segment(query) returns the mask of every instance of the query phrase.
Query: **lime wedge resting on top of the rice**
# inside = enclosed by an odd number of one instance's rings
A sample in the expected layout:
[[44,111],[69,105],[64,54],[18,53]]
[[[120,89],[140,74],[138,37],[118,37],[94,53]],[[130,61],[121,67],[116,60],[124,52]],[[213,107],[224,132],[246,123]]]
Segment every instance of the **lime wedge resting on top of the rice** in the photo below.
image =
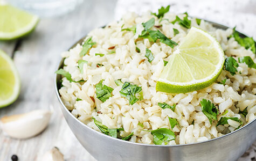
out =
[[186,93],[204,89],[216,81],[224,64],[224,52],[209,33],[192,27],[170,56],[156,90]]

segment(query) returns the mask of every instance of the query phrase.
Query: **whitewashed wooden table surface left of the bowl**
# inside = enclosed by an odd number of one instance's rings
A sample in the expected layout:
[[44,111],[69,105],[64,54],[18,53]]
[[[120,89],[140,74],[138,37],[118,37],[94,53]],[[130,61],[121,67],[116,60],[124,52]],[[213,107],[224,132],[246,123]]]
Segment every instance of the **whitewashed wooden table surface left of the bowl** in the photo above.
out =
[[54,91],[54,71],[60,53],[95,27],[114,19],[115,0],[89,0],[75,11],[56,18],[41,18],[36,30],[27,38],[1,42],[0,48],[13,57],[22,80],[18,100],[0,109],[0,117],[29,112],[33,109],[54,108],[49,126],[40,135],[26,140],[4,136],[0,129],[0,160],[41,160],[54,146],[65,160],[95,160],[75,138],[60,111]]

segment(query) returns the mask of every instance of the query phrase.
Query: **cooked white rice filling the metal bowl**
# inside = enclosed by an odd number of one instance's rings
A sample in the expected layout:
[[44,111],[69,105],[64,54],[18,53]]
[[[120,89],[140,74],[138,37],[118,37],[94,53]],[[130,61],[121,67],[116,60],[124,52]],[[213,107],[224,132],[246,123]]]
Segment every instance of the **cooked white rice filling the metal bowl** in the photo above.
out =
[[[184,14],[178,14],[184,17]],[[75,81],[86,80],[84,83],[75,83],[63,78],[63,86],[59,90],[61,99],[71,113],[87,126],[99,130],[95,126],[92,117],[102,122],[108,128],[124,128],[120,135],[125,137],[134,133],[131,142],[154,144],[153,135],[150,131],[158,128],[170,129],[170,118],[176,118],[179,126],[175,126],[172,131],[176,134],[174,141],[169,141],[168,145],[187,144],[201,142],[216,138],[235,130],[238,122],[228,120],[229,125],[220,125],[216,127],[217,120],[213,120],[212,125],[209,119],[203,114],[200,101],[202,99],[210,100],[219,107],[220,114],[218,120],[223,116],[237,117],[243,121],[243,126],[255,119],[256,114],[256,70],[248,68],[245,63],[239,63],[238,72],[232,76],[229,71],[222,71],[218,81],[227,79],[225,85],[213,83],[203,90],[189,93],[168,94],[156,91],[156,82],[163,70],[163,60],[168,61],[170,55],[177,48],[173,49],[164,43],[157,41],[149,42],[148,39],[137,39],[143,30],[142,23],[154,16],[150,12],[138,16],[136,13],[127,13],[120,21],[109,23],[105,28],[96,28],[91,31],[89,36],[96,42],[96,45],[89,50],[88,54],[82,58],[79,53],[82,46],[78,44],[62,56],[65,58],[64,70],[70,72]],[[175,20],[176,14],[165,13],[163,19],[169,21]],[[171,24],[167,20],[156,19],[155,25],[162,25],[157,28],[171,40],[179,43],[188,33],[188,29],[178,23]],[[123,26],[124,25],[124,26]],[[121,31],[121,27],[127,28],[136,25],[136,33],[130,31]],[[202,28],[215,36],[222,46],[226,56],[251,56],[256,61],[255,54],[250,49],[241,47],[234,38],[229,38],[232,29],[220,30],[213,27],[210,23],[202,20],[198,26],[196,19],[191,19],[191,26]],[[154,28],[154,27],[153,27]],[[174,36],[172,28],[176,28],[179,34]],[[136,42],[136,45],[135,45]],[[115,46],[114,54],[109,54],[109,47]],[[137,53],[135,47],[141,50]],[[154,60],[149,63],[144,56],[146,47],[151,50]],[[95,53],[106,54],[102,57],[95,56]],[[81,74],[78,68],[78,60],[86,60],[84,72]],[[145,61],[142,61],[146,59]],[[102,67],[96,67],[96,64],[103,64]],[[113,96],[102,103],[95,94],[95,84],[100,80],[103,84],[112,87]],[[142,87],[143,100],[137,101],[134,105],[129,105],[129,101],[120,96],[119,91],[122,86],[117,86],[114,82],[121,79],[122,82],[130,82]],[[93,97],[94,101],[90,98]],[[77,98],[82,100],[76,101]],[[176,104],[175,112],[170,108],[162,109],[157,103]],[[239,114],[247,107],[246,117]],[[98,112],[100,111],[100,112]],[[226,112],[227,111],[227,112]],[[98,112],[98,113],[97,113]],[[143,124],[143,128],[138,123]],[[193,122],[193,125],[192,125]]]

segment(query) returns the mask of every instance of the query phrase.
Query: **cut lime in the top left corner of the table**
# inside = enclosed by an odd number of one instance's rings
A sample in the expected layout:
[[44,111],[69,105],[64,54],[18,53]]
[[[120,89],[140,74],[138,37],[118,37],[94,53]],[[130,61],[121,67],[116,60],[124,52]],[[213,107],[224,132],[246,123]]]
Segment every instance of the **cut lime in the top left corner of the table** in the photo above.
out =
[[24,36],[36,27],[39,18],[10,5],[0,5],[0,40]]

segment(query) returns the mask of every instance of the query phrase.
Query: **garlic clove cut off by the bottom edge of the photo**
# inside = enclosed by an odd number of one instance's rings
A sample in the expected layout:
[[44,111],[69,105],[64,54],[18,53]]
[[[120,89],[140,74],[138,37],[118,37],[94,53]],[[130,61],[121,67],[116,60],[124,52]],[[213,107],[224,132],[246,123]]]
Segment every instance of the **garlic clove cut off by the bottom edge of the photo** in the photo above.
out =
[[64,156],[63,154],[59,151],[58,148],[54,147],[52,150],[47,151],[43,158],[41,159],[42,161],[64,161]]

